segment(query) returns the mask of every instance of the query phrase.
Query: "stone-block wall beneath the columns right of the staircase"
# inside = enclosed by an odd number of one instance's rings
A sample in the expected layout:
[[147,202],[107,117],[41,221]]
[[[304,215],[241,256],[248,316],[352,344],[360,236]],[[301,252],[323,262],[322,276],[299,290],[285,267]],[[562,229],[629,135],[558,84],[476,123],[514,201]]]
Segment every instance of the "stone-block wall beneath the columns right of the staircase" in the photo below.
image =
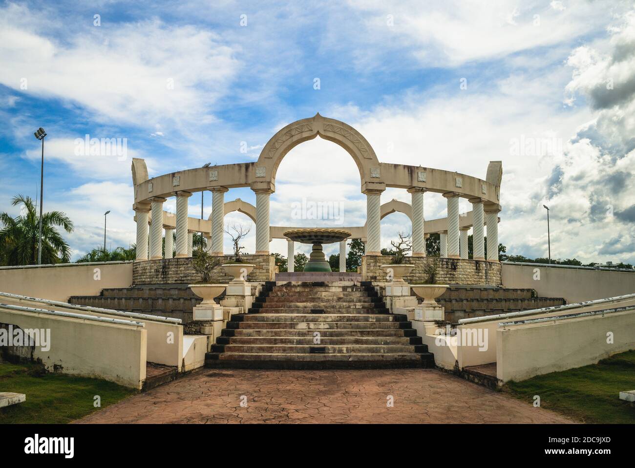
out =
[[[361,263],[361,274],[364,281],[385,281],[386,272],[380,265],[392,261],[389,255],[364,255]],[[500,286],[502,284],[500,263],[467,258],[439,257],[407,257],[406,263],[415,265],[404,280],[408,283],[425,281],[424,265],[438,262],[436,283],[439,284],[486,284]]]

